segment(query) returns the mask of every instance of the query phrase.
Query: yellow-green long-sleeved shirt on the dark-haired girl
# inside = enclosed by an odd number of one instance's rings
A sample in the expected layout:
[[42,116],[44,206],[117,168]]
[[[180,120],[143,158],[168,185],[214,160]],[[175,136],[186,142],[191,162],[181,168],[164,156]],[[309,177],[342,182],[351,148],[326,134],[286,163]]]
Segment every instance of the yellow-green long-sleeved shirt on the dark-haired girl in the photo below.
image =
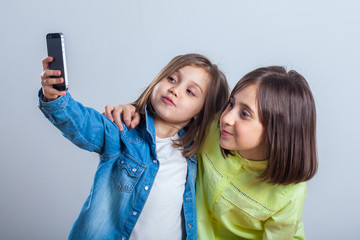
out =
[[271,185],[257,178],[267,161],[224,158],[216,119],[198,156],[199,240],[305,239],[301,215],[306,183]]

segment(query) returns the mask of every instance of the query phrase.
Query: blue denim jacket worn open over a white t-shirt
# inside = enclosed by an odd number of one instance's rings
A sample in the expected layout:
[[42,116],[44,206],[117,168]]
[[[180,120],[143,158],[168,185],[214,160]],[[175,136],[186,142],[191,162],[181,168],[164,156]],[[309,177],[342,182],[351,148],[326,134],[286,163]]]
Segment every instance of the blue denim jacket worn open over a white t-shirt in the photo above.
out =
[[[40,110],[67,139],[100,155],[93,186],[69,239],[129,239],[159,169],[153,118],[146,113],[136,128],[129,131],[124,126],[120,132],[107,117],[76,102],[69,93],[51,102],[42,99],[40,90]],[[183,212],[186,239],[193,240],[197,238],[196,158],[187,158],[187,165]]]

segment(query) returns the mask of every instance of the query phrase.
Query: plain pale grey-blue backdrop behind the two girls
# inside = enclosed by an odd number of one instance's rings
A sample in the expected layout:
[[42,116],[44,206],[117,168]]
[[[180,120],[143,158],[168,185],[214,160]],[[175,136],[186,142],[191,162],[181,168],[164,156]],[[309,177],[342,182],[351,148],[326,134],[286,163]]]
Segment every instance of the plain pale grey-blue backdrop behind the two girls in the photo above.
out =
[[45,35],[66,37],[72,95],[103,111],[133,101],[174,56],[197,52],[230,86],[266,65],[309,81],[320,168],[308,183],[308,239],[359,239],[359,1],[0,2],[0,239],[65,239],[98,157],[37,108]]

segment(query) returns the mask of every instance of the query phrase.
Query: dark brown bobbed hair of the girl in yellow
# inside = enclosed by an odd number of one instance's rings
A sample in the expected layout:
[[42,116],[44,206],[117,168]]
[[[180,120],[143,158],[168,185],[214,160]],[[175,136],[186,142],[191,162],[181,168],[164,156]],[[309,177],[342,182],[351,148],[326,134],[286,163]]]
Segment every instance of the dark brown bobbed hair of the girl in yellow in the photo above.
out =
[[[268,164],[260,178],[287,185],[311,179],[318,167],[316,109],[305,78],[294,70],[270,66],[246,74],[231,96],[256,84]],[[222,149],[225,156],[229,150]]]

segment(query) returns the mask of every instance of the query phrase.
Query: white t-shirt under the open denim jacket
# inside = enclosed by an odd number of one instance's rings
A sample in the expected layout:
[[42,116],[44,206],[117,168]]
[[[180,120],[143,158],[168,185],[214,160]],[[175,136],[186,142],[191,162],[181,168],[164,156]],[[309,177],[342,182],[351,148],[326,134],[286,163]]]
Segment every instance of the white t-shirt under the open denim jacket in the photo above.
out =
[[179,149],[172,147],[171,138],[156,137],[159,170],[131,233],[130,240],[182,240],[183,194],[187,175],[187,163]]

